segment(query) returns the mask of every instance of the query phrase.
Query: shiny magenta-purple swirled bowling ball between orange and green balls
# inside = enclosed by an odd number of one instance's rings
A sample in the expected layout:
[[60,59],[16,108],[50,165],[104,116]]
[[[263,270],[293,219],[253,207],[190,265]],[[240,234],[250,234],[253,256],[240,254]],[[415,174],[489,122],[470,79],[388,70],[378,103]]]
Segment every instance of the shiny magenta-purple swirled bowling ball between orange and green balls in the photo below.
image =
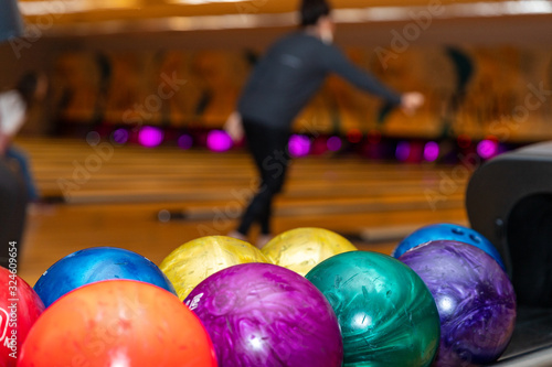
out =
[[291,270],[230,267],[195,287],[185,304],[211,335],[220,366],[341,366],[343,345],[330,304]]

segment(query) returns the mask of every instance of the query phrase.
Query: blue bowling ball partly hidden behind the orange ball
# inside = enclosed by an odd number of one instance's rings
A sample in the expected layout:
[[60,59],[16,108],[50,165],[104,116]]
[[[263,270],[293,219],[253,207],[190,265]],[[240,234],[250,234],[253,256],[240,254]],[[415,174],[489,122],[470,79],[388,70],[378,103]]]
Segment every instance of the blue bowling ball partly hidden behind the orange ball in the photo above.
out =
[[39,278],[34,290],[47,307],[75,288],[110,279],[139,280],[177,294],[153,262],[114,247],[88,248],[64,257]]

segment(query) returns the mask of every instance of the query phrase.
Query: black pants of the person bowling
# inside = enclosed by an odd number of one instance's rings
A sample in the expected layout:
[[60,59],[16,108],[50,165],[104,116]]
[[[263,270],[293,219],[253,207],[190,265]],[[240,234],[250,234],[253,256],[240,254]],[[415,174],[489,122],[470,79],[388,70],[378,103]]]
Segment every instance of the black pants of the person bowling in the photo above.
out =
[[257,193],[242,216],[237,231],[247,235],[254,223],[261,225],[261,233],[270,234],[270,217],[274,196],[278,194],[286,179],[290,163],[288,152],[289,131],[263,126],[244,119],[243,127],[250,152],[258,170],[261,183]]

